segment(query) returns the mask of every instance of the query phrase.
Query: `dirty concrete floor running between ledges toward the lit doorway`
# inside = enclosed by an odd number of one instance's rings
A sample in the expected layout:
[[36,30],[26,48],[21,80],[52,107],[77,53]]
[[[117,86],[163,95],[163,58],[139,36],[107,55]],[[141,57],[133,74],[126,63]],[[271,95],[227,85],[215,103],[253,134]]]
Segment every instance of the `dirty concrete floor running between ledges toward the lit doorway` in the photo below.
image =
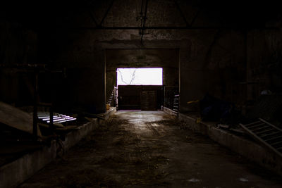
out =
[[282,187],[164,112],[117,112],[20,187]]

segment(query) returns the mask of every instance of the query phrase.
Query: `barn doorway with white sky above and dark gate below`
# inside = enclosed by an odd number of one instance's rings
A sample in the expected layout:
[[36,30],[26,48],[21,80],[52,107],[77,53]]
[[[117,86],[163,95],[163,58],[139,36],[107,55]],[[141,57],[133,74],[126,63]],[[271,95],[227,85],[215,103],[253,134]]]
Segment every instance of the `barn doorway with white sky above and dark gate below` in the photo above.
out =
[[161,110],[163,68],[117,68],[116,75],[118,110]]

